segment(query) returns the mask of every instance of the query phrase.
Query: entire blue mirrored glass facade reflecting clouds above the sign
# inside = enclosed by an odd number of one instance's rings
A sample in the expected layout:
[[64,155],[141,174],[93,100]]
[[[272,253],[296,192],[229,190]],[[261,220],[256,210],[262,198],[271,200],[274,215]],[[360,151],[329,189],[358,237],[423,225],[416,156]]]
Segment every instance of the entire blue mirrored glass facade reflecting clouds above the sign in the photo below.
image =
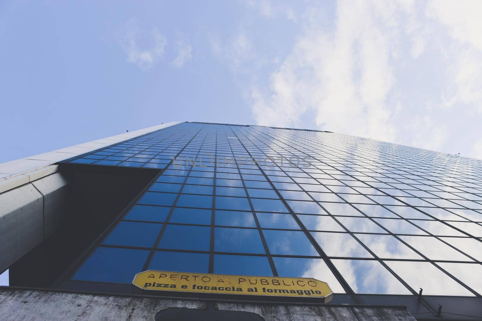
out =
[[481,296],[482,161],[313,130],[181,123],[67,161],[159,170],[69,280],[313,277]]

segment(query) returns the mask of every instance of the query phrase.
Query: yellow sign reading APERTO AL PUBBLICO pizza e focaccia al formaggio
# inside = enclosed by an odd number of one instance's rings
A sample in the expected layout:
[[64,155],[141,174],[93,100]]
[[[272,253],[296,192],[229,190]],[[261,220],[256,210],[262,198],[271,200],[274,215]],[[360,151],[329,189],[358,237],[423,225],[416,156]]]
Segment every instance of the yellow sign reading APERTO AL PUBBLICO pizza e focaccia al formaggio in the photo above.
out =
[[202,274],[148,270],[137,273],[132,284],[143,290],[192,293],[316,297],[329,302],[327,283],[310,278]]

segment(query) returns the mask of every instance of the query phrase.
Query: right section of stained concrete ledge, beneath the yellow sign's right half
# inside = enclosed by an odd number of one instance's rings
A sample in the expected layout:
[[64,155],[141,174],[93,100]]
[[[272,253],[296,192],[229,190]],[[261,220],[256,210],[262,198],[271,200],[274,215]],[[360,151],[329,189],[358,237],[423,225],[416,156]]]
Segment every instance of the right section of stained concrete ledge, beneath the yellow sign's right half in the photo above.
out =
[[355,321],[355,320],[397,320],[415,321],[404,307],[361,307],[330,305],[253,305],[216,303],[218,310],[250,311],[266,321]]

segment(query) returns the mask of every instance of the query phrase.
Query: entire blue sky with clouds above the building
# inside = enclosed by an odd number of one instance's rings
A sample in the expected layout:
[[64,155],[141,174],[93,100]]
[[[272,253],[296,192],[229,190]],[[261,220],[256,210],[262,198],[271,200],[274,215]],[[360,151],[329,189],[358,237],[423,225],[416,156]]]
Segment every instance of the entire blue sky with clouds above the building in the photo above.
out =
[[1,1],[0,162],[175,120],[482,158],[481,1]]

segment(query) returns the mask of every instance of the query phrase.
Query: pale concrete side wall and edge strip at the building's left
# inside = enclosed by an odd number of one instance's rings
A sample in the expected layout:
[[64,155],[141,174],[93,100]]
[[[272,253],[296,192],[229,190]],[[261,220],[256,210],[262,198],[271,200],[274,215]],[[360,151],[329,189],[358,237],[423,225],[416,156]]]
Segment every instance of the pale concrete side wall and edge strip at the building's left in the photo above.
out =
[[126,132],[0,164],[0,273],[52,235],[68,215],[67,178],[55,162],[179,122]]

